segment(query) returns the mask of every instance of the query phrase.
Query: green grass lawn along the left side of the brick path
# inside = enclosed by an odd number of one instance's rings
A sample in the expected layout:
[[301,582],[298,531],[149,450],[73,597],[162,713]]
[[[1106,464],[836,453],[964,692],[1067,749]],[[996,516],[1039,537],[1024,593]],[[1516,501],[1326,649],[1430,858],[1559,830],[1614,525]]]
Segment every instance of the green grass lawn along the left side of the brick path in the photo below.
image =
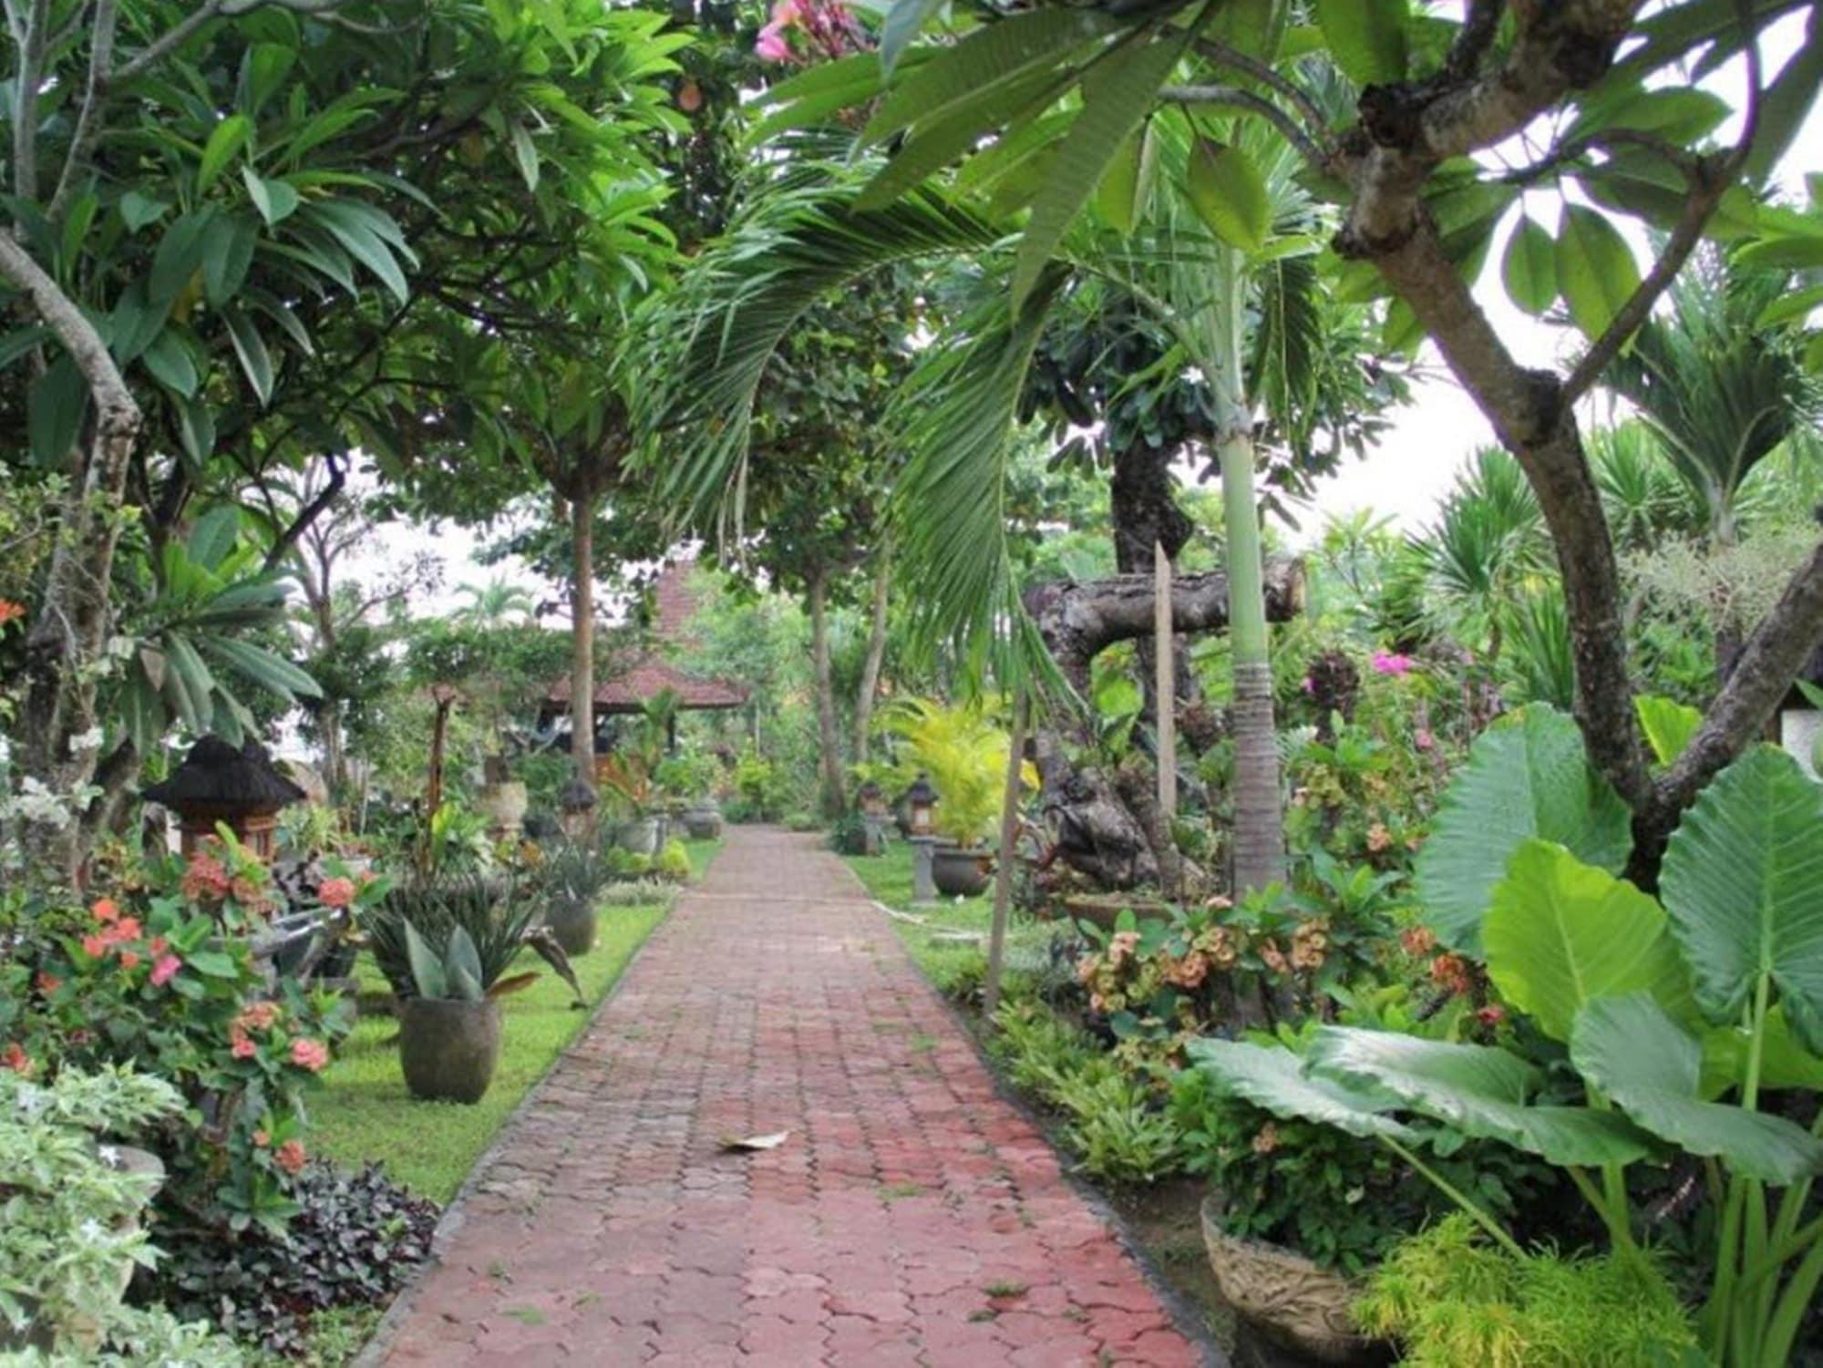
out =
[[[720,843],[691,841],[687,846],[691,868],[700,876]],[[341,1164],[379,1160],[396,1182],[436,1202],[448,1202],[512,1109],[589,1021],[594,1005],[669,908],[669,901],[602,908],[596,947],[574,961],[589,1010],[572,1009],[569,987],[551,972],[540,974],[530,989],[501,1000],[500,1069],[487,1096],[472,1107],[419,1102],[407,1093],[399,1073],[397,1021],[377,1014],[363,1018],[323,1073],[324,1087],[308,1098],[306,1144]],[[525,963],[543,965],[534,956],[527,956]],[[357,976],[363,992],[385,992],[386,983],[366,956]]]

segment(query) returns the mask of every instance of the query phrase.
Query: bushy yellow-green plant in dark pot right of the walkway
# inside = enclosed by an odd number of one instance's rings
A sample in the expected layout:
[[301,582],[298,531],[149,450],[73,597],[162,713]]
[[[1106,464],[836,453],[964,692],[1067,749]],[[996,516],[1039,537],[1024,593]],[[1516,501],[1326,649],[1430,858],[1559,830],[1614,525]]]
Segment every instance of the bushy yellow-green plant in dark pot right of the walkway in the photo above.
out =
[[990,841],[1001,821],[1006,733],[981,704],[952,708],[928,699],[897,704],[886,726],[904,737],[912,768],[930,775],[937,790],[932,857],[937,892],[979,894],[994,874]]

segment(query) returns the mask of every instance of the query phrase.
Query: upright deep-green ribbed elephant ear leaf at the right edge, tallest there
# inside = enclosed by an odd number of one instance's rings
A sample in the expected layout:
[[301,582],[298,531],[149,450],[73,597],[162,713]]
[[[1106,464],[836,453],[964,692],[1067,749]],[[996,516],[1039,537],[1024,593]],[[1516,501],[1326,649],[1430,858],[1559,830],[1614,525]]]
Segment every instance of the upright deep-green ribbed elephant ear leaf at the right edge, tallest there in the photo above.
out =
[[1763,978],[1823,1052],[1823,788],[1759,744],[1703,790],[1672,834],[1659,894],[1710,1021],[1741,1020]]

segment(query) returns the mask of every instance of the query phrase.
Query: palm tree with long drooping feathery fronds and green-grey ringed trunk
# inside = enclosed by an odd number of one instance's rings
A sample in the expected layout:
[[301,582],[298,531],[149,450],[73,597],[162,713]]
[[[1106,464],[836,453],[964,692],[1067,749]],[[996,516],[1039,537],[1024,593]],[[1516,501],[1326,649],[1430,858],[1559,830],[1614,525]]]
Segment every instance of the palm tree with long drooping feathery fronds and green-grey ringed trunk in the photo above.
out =
[[[1187,120],[1170,120],[1158,139],[1158,153],[1179,175],[1192,146]],[[1267,223],[1307,226],[1300,192],[1274,171],[1267,166],[1262,175],[1272,195]],[[1174,365],[1198,372],[1216,396],[1210,454],[1225,491],[1240,751],[1234,885],[1254,888],[1282,877],[1254,423],[1262,398],[1280,396],[1287,409],[1272,414],[1278,427],[1302,421],[1289,409],[1303,390],[1285,378],[1313,354],[1309,321],[1318,310],[1300,292],[1314,288],[1314,274],[1283,259],[1256,264],[1174,193],[1178,175],[1159,175],[1139,206],[1152,215],[1141,230],[1128,235],[1077,221],[1059,261],[1015,305],[1003,285],[1012,252],[992,221],[928,188],[886,208],[857,208],[848,190],[853,175],[853,168],[798,166],[758,199],[731,244],[685,279],[665,321],[685,337],[685,354],[669,367],[676,383],[658,398],[653,416],[682,423],[695,438],[665,472],[669,492],[696,507],[727,507],[727,492],[742,483],[746,425],[766,359],[822,292],[891,261],[972,257],[972,306],[924,350],[886,414],[893,445],[908,452],[893,516],[902,580],[919,587],[910,607],[924,638],[950,644],[964,662],[992,660],[1003,684],[1015,682],[1034,662],[1043,669],[1048,660],[1019,600],[1004,525],[1008,438],[1032,354],[1048,312],[1070,292],[1117,292],[1136,301],[1176,339]],[[676,452],[678,443],[667,451]]]

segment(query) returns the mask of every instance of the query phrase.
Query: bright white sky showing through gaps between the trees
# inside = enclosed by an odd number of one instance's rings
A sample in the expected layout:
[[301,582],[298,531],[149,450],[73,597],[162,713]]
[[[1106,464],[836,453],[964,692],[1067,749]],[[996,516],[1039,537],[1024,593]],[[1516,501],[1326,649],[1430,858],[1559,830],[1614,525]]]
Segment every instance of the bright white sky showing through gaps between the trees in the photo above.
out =
[[[1770,80],[1785,60],[1796,51],[1803,36],[1805,16],[1796,15],[1774,26],[1763,42],[1766,78]],[[1723,67],[1703,82],[1723,98],[1739,108],[1743,95],[1743,73],[1739,64]],[[1734,137],[1735,124],[1725,124],[1715,137],[1726,140]],[[1502,150],[1511,153],[1513,162],[1526,162],[1529,157],[1520,148]],[[1823,102],[1810,111],[1803,131],[1792,142],[1792,151],[1779,168],[1777,181],[1788,195],[1803,197],[1803,177],[1807,171],[1823,170]],[[1559,213],[1559,193],[1555,190],[1528,192],[1524,208],[1533,219],[1555,232]],[[1513,210],[1513,215],[1520,212]],[[1630,219],[1621,219],[1621,228],[1633,243],[1641,270],[1650,264],[1650,252],[1644,233]],[[1475,286],[1475,297],[1488,310],[1489,321],[1500,337],[1513,350],[1522,365],[1562,367],[1582,347],[1581,334],[1568,328],[1553,328],[1517,310],[1506,297],[1500,285],[1499,250],[1506,241],[1504,224],[1495,235],[1495,250],[1482,268]],[[1449,489],[1457,471],[1468,456],[1482,445],[1493,441],[1493,430],[1475,403],[1447,376],[1437,350],[1426,343],[1422,367],[1426,379],[1413,385],[1413,401],[1396,410],[1393,425],[1380,445],[1365,460],[1351,461],[1340,474],[1320,485],[1316,494],[1316,516],[1303,520],[1303,536],[1313,536],[1323,514],[1347,514],[1358,509],[1373,509],[1391,516],[1404,531],[1418,531],[1429,522],[1438,498]],[[1606,418],[1608,403],[1593,399],[1584,405],[1584,420]],[[443,589],[416,607],[419,613],[439,613],[463,602],[458,587],[465,582],[485,582],[496,575],[507,575],[518,584],[534,587],[536,593],[554,595],[549,582],[540,580],[516,560],[500,565],[481,565],[476,562],[476,547],[485,540],[456,523],[443,523],[436,533],[416,525],[386,525],[355,556],[348,571],[359,578],[383,575],[386,565],[401,558],[434,551],[445,562]]]

